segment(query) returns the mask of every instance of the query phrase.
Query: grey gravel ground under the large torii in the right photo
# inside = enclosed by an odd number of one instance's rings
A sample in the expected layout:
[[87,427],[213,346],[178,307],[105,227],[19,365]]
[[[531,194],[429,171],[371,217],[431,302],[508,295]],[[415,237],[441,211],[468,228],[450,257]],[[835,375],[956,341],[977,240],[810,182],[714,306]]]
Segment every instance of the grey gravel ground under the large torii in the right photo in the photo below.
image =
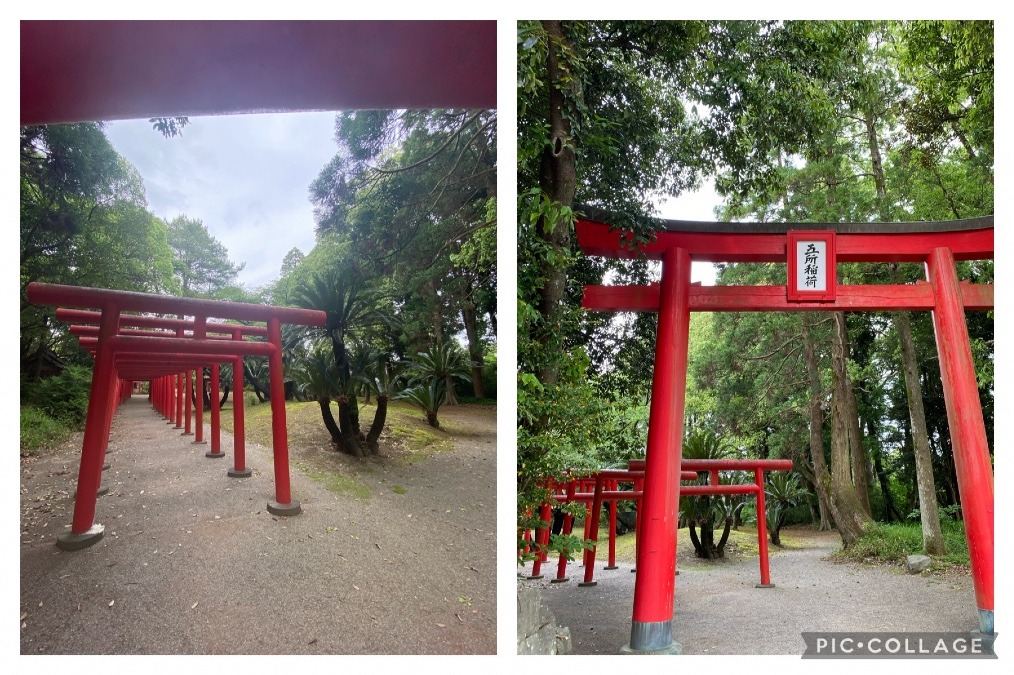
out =
[[[831,630],[953,630],[977,627],[967,575],[909,576],[883,567],[836,564],[826,556],[837,533],[794,530],[803,545],[771,555],[775,588],[757,589],[756,556],[714,564],[680,551],[673,634],[683,654],[789,654],[805,649],[801,633]],[[684,561],[685,560],[685,561]],[[574,654],[617,654],[630,641],[634,578],[630,565],[603,571],[597,586],[580,588],[580,561],[571,581],[551,584],[556,564],[544,566],[542,598],[568,626]]]

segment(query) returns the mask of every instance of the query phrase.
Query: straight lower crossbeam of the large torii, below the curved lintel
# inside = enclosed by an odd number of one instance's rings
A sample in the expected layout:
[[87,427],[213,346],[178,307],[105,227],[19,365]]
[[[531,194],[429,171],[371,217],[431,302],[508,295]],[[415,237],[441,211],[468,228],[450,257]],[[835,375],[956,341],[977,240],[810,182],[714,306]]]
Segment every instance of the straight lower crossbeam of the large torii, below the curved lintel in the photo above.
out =
[[[992,284],[961,284],[966,310],[993,309]],[[897,286],[839,286],[834,302],[789,302],[784,286],[691,286],[691,311],[900,311],[933,309],[933,288],[923,282]],[[658,311],[658,286],[585,286],[581,306],[619,312]]]

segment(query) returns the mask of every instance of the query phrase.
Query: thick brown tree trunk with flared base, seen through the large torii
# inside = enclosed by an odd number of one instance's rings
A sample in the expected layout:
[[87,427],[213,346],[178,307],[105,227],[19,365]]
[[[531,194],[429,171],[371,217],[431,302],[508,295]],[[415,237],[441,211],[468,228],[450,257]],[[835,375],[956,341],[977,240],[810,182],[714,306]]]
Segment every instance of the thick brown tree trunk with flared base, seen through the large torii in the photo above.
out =
[[835,329],[831,331],[831,373],[834,387],[830,404],[830,482],[831,512],[842,543],[846,548],[862,535],[872,518],[863,509],[851,479],[849,457],[849,415],[847,387],[850,386],[846,368],[846,345],[842,340],[845,314],[834,312]]

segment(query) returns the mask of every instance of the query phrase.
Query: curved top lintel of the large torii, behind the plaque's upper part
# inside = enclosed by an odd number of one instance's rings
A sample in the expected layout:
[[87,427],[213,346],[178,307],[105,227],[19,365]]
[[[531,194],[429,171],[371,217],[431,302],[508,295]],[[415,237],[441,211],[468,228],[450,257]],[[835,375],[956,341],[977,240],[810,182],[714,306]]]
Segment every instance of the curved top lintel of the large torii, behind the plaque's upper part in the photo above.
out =
[[[659,232],[633,250],[629,233],[605,223],[577,219],[578,244],[588,255],[661,259],[666,248],[685,248],[706,262],[785,262],[786,235],[751,232]],[[728,225],[728,224],[725,224]],[[950,248],[958,260],[993,258],[993,228],[949,232],[837,235],[839,262],[925,262],[934,248]]]

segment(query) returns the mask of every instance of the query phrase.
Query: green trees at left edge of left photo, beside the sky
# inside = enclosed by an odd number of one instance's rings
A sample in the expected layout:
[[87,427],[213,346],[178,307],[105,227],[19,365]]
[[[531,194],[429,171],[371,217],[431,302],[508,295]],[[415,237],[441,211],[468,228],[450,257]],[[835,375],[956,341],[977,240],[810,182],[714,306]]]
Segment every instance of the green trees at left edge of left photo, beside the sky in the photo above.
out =
[[148,212],[140,175],[101,125],[21,128],[22,371],[54,355],[70,363],[85,359],[77,340],[55,322],[54,308],[27,303],[28,283],[173,292],[171,264],[165,224]]

